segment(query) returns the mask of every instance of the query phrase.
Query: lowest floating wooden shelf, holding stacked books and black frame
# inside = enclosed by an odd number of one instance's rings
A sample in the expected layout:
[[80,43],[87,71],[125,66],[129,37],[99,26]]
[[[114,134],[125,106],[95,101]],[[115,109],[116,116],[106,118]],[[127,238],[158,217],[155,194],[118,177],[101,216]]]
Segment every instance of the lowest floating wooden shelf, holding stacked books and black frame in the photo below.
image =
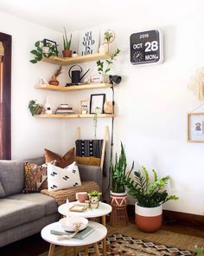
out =
[[[108,118],[108,117],[115,117],[114,114],[98,114],[98,118]],[[93,118],[94,114],[70,114],[70,115],[64,115],[64,114],[41,114],[41,115],[35,115],[35,117],[38,118]]]

